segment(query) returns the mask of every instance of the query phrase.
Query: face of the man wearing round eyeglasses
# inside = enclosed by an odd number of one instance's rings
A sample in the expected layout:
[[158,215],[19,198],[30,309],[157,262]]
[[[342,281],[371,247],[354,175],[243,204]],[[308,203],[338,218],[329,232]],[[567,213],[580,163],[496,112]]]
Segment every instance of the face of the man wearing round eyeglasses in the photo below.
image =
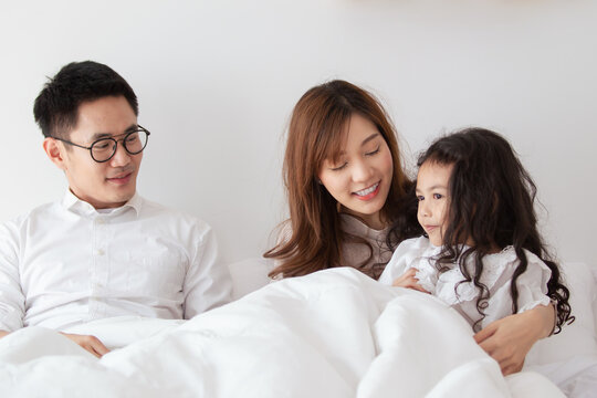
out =
[[107,209],[123,206],[135,195],[143,153],[128,154],[122,138],[136,127],[137,116],[124,96],[106,96],[78,106],[78,118],[67,138],[70,142],[90,147],[100,138],[118,140],[116,154],[104,163],[93,160],[88,149],[55,140],[62,157],[59,167],[64,170],[69,187],[78,199],[96,209]]

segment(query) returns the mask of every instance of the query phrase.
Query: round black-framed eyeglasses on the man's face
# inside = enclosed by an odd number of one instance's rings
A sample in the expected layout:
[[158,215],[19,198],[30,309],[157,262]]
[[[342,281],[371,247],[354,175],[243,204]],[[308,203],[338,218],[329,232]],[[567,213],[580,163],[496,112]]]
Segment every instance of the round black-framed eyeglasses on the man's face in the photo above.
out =
[[149,138],[149,134],[150,133],[144,127],[137,126],[137,128],[135,128],[132,132],[126,133],[126,135],[121,139],[100,138],[98,140],[94,142],[88,147],[78,145],[75,143],[71,143],[67,139],[62,139],[59,137],[52,137],[52,138],[63,142],[64,144],[78,147],[78,148],[88,149],[93,160],[97,163],[104,163],[112,159],[114,154],[116,154],[116,147],[118,146],[119,140],[123,143],[123,147],[128,154],[130,155],[140,154],[143,149],[145,149],[145,147],[147,146],[147,139]]

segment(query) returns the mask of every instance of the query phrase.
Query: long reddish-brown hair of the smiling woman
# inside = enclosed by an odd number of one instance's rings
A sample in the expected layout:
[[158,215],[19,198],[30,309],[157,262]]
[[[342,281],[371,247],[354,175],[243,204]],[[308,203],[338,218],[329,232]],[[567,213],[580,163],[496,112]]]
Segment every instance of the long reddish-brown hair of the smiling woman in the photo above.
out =
[[[381,209],[383,219],[388,224],[394,223],[388,234],[388,245],[394,249],[397,242],[416,235],[411,228],[420,233],[416,205],[409,206],[410,210],[406,211],[410,197],[415,197],[407,193],[412,182],[402,170],[396,130],[388,115],[365,90],[339,80],[324,83],[308,90],[298,100],[290,122],[283,167],[290,209],[290,219],[285,222],[289,237],[283,237],[277,245],[263,254],[281,263],[270,273],[271,277],[306,275],[342,265],[342,243],[346,241],[366,244],[370,260],[370,244],[360,237],[342,231],[336,200],[317,178],[323,161],[337,158],[354,114],[369,119],[377,127],[394,160],[394,177]],[[397,220],[399,218],[404,218],[404,221]],[[378,277],[379,273],[369,272],[373,277]]]

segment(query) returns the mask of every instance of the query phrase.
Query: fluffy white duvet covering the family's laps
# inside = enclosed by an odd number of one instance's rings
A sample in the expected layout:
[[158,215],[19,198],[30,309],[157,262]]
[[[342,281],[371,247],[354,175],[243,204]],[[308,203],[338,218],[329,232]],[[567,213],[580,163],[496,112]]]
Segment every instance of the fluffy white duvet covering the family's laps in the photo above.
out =
[[275,282],[188,322],[71,332],[115,349],[96,359],[53,331],[21,329],[0,341],[0,397],[563,396],[535,373],[503,378],[438,300],[352,269]]

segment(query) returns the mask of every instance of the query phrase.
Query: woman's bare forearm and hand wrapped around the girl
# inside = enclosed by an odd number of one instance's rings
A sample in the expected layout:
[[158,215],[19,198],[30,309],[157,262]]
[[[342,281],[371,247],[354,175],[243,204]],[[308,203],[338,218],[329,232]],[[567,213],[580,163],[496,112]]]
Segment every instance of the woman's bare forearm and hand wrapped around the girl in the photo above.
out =
[[520,371],[526,354],[538,339],[551,335],[555,325],[554,305],[537,305],[520,314],[489,324],[474,335],[475,342],[493,359],[504,376]]

